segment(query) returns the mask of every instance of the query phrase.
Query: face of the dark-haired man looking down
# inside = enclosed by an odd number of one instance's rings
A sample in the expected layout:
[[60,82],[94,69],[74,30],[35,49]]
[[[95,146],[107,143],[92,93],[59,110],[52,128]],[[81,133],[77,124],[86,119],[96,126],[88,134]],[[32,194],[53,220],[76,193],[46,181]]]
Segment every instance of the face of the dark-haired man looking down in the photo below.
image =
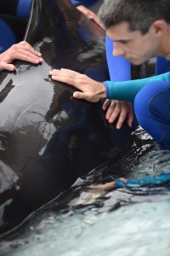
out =
[[122,22],[111,26],[106,33],[114,41],[113,55],[122,55],[135,65],[159,54],[159,40],[151,27],[149,32],[142,35],[139,31],[129,32],[127,22]]

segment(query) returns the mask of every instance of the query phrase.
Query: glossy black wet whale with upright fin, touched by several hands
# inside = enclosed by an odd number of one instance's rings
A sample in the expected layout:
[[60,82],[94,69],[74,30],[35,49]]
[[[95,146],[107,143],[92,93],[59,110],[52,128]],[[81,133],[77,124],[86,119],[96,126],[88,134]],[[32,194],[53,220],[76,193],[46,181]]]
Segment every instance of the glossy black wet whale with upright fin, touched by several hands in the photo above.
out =
[[15,61],[16,71],[0,77],[1,235],[116,158],[131,133],[108,125],[100,103],[76,101],[73,88],[48,77],[64,67],[108,79],[105,35],[69,0],[34,0],[25,38],[43,62]]

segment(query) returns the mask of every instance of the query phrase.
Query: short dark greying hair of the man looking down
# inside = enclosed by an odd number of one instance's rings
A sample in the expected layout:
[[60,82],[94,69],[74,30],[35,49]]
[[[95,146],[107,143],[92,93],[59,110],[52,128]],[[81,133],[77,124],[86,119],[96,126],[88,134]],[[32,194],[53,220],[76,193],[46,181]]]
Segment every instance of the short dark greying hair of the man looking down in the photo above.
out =
[[105,0],[99,19],[106,29],[126,21],[131,32],[145,34],[155,20],[170,23],[170,0]]

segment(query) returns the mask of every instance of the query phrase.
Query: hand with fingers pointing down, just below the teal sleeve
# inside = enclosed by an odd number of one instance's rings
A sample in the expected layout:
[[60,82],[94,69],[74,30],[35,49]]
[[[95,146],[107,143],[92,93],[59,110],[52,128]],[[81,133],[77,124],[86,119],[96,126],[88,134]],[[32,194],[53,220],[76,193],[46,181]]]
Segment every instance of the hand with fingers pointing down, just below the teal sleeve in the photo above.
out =
[[128,127],[133,123],[133,105],[131,102],[120,102],[116,100],[105,100],[103,110],[106,110],[105,119],[111,124],[118,117],[116,129],[121,129],[123,122],[127,119]]

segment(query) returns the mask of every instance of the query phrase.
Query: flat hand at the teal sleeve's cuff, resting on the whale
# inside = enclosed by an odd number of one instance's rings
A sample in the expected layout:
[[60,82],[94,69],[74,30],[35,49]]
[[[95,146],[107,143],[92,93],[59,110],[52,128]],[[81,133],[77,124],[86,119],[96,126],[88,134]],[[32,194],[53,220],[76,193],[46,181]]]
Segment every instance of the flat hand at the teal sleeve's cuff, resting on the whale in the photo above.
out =
[[88,76],[77,73],[70,69],[54,69],[49,74],[52,79],[70,84],[76,87],[78,90],[75,91],[73,96],[77,99],[84,99],[88,102],[99,102],[100,99],[105,98],[105,85],[95,81],[94,79],[88,78]]

